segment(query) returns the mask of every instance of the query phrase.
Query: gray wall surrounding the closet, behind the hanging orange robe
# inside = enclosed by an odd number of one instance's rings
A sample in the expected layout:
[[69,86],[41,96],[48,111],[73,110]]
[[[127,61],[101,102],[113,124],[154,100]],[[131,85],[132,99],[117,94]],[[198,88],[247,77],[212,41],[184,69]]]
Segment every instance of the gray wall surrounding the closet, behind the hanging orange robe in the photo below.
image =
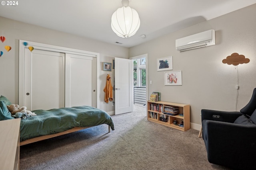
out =
[[[112,102],[108,104],[104,102],[105,93],[103,92],[106,85],[106,75],[110,74],[111,77],[114,77],[114,70],[111,72],[103,71],[102,62],[112,63],[114,57],[128,58],[128,48],[2,17],[0,17],[0,36],[6,37],[4,43],[0,41],[0,51],[4,52],[2,57],[0,57],[0,95],[6,96],[12,103],[18,104],[18,40],[22,39],[100,53],[100,109],[114,113]],[[9,52],[4,49],[6,45],[12,47]],[[112,83],[114,83],[114,78]]]

